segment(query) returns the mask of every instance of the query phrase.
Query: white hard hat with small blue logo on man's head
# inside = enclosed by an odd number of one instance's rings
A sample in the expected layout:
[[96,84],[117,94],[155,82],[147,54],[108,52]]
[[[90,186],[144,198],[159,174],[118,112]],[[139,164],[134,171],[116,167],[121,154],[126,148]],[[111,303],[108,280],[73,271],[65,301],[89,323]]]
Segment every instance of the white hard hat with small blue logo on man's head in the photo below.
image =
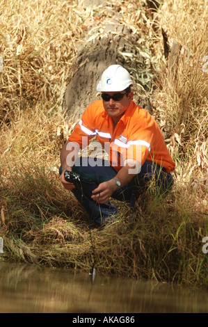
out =
[[121,65],[111,65],[102,73],[98,92],[120,92],[132,84],[129,72]]

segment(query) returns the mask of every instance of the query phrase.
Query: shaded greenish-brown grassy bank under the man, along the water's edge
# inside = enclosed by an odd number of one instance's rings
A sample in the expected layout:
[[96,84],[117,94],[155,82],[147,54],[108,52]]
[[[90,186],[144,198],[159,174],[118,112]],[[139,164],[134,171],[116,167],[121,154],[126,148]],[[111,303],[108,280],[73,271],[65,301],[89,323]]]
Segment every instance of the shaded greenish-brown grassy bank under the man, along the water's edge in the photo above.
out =
[[63,190],[57,173],[30,162],[7,176],[1,179],[1,235],[8,260],[90,271],[95,254],[100,273],[207,285],[207,226],[193,205],[196,194],[175,188],[161,199],[149,192],[131,223],[128,205],[117,203],[120,218],[100,229]]

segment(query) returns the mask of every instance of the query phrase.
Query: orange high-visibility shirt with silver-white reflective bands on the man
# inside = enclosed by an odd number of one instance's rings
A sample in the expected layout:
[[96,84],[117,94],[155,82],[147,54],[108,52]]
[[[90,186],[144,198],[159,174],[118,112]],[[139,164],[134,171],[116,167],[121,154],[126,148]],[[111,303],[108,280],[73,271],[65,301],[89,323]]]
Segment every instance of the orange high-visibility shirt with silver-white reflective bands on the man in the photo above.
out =
[[[110,164],[117,171],[124,166],[126,159],[134,159],[141,166],[145,160],[153,161],[166,168],[167,172],[175,169],[175,162],[170,157],[157,122],[133,101],[114,130],[112,118],[106,113],[102,100],[90,104],[69,141],[76,142],[83,148],[94,136],[109,153]],[[83,144],[86,138],[87,144],[86,141]]]

